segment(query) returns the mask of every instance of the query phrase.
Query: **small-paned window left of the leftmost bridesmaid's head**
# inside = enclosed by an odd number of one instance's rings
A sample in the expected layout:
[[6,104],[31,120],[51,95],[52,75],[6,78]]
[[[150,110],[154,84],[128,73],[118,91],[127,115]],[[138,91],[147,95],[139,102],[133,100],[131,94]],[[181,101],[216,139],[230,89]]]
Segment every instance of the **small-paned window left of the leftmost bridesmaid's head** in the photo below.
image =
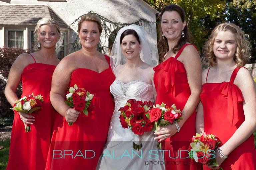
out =
[[16,30],[8,30],[8,47],[19,47],[24,46],[24,32]]

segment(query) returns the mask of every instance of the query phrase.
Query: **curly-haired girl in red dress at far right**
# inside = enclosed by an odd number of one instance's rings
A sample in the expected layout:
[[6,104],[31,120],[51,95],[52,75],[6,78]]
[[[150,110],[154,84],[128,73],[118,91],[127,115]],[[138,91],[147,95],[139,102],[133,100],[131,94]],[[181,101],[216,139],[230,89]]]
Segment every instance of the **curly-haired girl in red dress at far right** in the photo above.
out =
[[197,131],[201,128],[222,141],[216,159],[224,170],[256,169],[256,90],[243,67],[250,57],[248,45],[242,30],[231,23],[215,27],[205,45],[211,67],[202,74]]

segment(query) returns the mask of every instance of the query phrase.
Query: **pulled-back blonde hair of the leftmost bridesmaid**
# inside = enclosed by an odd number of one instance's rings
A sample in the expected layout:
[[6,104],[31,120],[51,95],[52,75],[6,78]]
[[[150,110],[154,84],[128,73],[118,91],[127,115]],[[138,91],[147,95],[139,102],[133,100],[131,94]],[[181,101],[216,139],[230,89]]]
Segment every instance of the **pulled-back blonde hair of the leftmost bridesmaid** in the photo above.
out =
[[60,24],[58,23],[58,21],[51,19],[51,18],[42,18],[41,20],[38,20],[38,22],[36,23],[36,27],[35,27],[35,31],[34,31],[34,39],[35,41],[35,46],[34,49],[39,50],[37,47],[38,44],[38,37],[39,37],[39,30],[43,25],[53,25],[56,27],[57,30],[57,34],[60,36]]

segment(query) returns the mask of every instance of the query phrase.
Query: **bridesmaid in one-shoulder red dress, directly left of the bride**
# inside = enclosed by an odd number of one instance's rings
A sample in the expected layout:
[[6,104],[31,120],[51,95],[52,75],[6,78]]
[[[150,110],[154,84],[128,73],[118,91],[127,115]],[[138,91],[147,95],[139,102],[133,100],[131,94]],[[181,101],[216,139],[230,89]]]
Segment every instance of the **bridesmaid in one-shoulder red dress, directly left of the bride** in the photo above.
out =
[[[107,139],[114,100],[109,91],[115,76],[109,57],[97,51],[101,21],[92,14],[81,17],[78,35],[82,49],[64,57],[56,67],[51,102],[59,113],[55,121],[46,169],[95,169]],[[88,116],[65,104],[68,87],[76,84],[94,97]],[[68,122],[73,125],[69,126]]]

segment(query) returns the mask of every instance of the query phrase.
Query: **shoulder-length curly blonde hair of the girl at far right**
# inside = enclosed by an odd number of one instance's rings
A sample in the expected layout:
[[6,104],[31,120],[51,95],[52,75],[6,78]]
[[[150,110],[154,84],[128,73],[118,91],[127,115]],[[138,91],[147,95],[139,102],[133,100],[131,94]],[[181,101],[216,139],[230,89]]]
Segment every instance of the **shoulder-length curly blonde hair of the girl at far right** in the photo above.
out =
[[208,64],[210,64],[212,67],[217,64],[216,56],[213,52],[213,44],[215,38],[220,31],[229,31],[234,34],[237,43],[234,61],[237,66],[244,66],[246,62],[250,59],[250,43],[248,40],[246,40],[243,31],[238,26],[232,23],[222,23],[213,29],[208,41],[204,45],[205,57],[208,59]]

